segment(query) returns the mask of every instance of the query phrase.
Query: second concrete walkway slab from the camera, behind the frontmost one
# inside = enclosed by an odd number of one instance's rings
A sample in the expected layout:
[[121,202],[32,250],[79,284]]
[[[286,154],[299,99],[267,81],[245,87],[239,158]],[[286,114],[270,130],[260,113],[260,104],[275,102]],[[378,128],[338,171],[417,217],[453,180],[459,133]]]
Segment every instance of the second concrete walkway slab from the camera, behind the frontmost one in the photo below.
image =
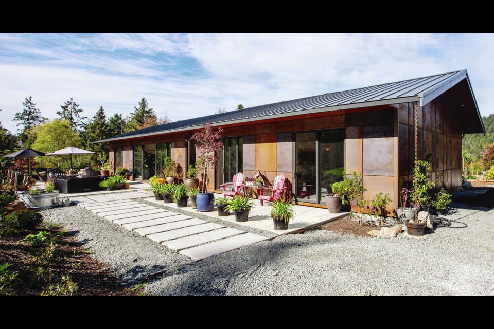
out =
[[[192,228],[205,226],[205,225],[207,225],[207,224],[193,226]],[[179,231],[179,230],[177,230],[177,231]],[[170,231],[167,233],[174,233],[174,232],[175,231]],[[243,234],[243,233],[245,233],[245,232],[240,231],[240,230],[236,230],[236,229],[233,229],[230,227],[225,227],[225,228],[221,228],[219,230],[214,230],[214,231],[209,231],[209,232],[205,232],[205,233],[186,236],[186,237],[182,237],[180,239],[175,239],[175,240],[171,240],[171,241],[165,241],[162,243],[162,245],[165,245],[168,248],[173,249],[175,251],[180,251],[182,249],[195,247],[198,245],[202,245],[204,243],[208,243],[208,242],[212,242],[212,241],[216,241],[216,240],[220,240],[220,239],[225,239],[225,237],[230,237],[230,236],[239,235],[239,234]],[[164,233],[164,234],[166,234],[166,233]],[[154,240],[152,235],[149,235],[148,237],[150,239]]]

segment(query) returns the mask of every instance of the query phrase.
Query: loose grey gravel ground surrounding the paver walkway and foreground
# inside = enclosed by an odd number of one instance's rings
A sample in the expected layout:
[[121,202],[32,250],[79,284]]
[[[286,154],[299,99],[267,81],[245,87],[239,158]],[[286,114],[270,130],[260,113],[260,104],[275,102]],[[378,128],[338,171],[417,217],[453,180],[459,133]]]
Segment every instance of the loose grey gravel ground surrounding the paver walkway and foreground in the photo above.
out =
[[[494,210],[457,208],[426,239],[372,239],[315,229],[200,262],[79,207],[44,211],[127,280],[171,268],[152,295],[494,295]],[[134,262],[134,260],[137,261]],[[137,276],[137,277],[136,277]]]

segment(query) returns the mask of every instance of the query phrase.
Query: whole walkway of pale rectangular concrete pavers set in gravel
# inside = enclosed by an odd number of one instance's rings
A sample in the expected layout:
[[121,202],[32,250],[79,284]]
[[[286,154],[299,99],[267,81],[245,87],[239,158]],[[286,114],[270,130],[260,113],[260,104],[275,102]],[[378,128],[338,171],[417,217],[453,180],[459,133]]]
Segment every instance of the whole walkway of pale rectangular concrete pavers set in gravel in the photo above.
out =
[[172,250],[201,260],[267,238],[139,202],[145,192],[74,197],[80,207]]

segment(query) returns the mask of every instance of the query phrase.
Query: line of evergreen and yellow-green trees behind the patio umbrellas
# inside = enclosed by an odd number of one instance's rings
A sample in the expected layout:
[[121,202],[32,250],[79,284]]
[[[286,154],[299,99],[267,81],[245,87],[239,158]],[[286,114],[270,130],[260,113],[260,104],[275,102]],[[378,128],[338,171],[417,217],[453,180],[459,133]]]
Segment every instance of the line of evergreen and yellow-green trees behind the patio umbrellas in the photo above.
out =
[[[0,155],[19,148],[48,153],[74,146],[96,153],[95,157],[77,157],[80,162],[77,165],[94,166],[95,159],[101,164],[108,161],[109,151],[106,143],[93,144],[94,141],[170,122],[166,116],[158,117],[144,97],[129,116],[115,114],[109,118],[103,106],[93,117],[83,116],[83,109],[73,98],[60,105],[55,119],[43,117],[32,96],[26,97],[22,104],[22,110],[13,117],[19,127],[17,134],[9,132],[0,122]],[[68,168],[66,157],[43,157],[38,161],[40,167]]]

